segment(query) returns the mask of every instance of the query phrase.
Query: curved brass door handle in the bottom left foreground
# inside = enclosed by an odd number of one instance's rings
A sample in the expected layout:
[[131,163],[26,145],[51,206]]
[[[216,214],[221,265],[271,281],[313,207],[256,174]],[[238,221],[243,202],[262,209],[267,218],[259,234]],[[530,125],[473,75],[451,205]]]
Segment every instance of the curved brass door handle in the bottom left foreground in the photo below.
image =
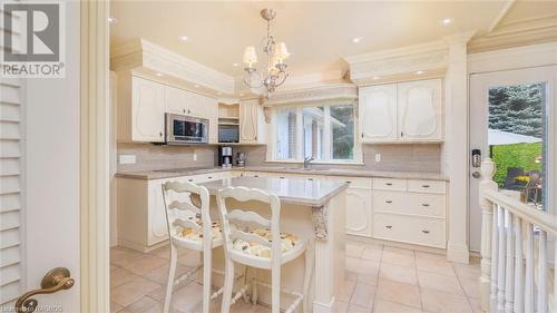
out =
[[35,312],[39,302],[31,296],[38,294],[50,294],[59,292],[61,290],[69,290],[76,281],[70,277],[70,272],[66,267],[56,267],[50,270],[42,281],[40,282],[40,288],[26,292],[16,302],[16,312]]

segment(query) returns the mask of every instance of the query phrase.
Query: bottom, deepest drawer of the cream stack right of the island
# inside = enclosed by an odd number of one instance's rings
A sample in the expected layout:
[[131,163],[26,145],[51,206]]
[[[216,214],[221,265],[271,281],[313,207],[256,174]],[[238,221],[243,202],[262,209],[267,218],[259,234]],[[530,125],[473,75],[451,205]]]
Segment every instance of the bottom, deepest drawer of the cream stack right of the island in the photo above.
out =
[[444,219],[382,213],[373,214],[373,236],[441,248],[447,241]]

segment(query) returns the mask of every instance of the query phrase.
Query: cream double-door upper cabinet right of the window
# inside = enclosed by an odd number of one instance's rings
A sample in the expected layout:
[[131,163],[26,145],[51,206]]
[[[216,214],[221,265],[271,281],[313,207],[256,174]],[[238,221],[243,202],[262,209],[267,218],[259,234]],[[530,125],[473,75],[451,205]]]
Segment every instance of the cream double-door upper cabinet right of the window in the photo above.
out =
[[361,87],[361,141],[442,141],[441,79]]

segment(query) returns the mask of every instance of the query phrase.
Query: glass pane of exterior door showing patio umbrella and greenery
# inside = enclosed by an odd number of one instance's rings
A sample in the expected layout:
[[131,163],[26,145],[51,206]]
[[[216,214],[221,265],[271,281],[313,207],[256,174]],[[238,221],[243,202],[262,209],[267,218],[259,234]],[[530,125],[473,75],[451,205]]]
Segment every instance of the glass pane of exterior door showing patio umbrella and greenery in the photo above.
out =
[[517,190],[532,207],[547,203],[546,84],[499,86],[489,89],[488,144],[497,165],[495,182]]

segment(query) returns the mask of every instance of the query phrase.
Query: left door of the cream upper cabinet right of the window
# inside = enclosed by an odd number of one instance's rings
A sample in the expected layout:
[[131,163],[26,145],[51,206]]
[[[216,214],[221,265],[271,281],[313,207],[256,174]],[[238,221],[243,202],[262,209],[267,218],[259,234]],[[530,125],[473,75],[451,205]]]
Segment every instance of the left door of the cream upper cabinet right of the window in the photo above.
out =
[[359,105],[362,143],[397,141],[395,84],[360,88]]

